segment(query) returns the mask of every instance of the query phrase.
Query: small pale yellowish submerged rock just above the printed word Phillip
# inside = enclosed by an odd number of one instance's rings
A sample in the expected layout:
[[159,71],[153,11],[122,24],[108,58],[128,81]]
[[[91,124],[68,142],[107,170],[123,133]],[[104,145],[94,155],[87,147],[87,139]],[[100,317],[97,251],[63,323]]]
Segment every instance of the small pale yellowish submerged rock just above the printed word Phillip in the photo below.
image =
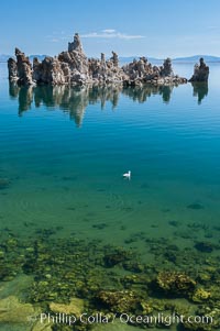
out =
[[80,315],[84,312],[84,300],[78,298],[72,298],[68,305],[51,302],[50,309],[53,312],[75,315],[76,317],[80,317]]

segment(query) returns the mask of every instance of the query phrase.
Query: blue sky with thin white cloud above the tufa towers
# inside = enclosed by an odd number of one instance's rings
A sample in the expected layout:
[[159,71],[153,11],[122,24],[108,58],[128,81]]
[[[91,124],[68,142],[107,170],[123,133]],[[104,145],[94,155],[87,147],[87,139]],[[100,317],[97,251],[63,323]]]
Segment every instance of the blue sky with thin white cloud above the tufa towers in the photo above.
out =
[[0,54],[55,55],[78,32],[88,56],[220,56],[219,13],[219,0],[2,0]]

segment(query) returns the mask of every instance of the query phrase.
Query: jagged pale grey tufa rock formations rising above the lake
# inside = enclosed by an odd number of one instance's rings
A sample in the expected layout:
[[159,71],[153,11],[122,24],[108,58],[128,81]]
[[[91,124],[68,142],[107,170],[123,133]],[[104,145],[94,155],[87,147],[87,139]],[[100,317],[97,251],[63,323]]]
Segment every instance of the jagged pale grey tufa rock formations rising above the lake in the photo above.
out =
[[[15,57],[9,58],[9,80],[19,86],[31,85],[87,85],[87,84],[122,84],[124,86],[141,86],[143,84],[153,85],[178,85],[186,84],[187,79],[175,75],[172,68],[170,58],[166,58],[162,66],[155,66],[142,56],[133,59],[132,63],[122,67],[119,65],[118,54],[112,52],[112,57],[106,59],[101,57],[87,58],[84,53],[78,33],[74,36],[74,42],[68,43],[68,51],[64,51],[58,56],[46,56],[42,62],[34,58],[33,65],[29,57],[19,48],[15,48]],[[208,79],[208,68],[200,62],[200,67],[195,68],[194,78]]]

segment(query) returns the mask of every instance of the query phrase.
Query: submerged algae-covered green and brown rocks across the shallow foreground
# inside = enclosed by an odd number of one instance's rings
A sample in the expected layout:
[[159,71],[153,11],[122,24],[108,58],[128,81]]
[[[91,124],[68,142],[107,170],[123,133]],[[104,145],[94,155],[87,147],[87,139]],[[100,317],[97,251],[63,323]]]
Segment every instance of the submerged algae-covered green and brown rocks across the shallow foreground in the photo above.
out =
[[[130,316],[164,312],[213,318],[207,323],[182,321],[179,330],[211,331],[220,327],[218,256],[151,240],[146,241],[146,250],[154,252],[155,245],[157,250],[155,263],[147,263],[134,249],[75,236],[53,239],[55,232],[36,231],[29,239],[18,238],[12,232],[1,234],[1,285],[21,275],[30,277],[30,282],[22,300],[14,295],[0,299],[0,322],[21,323],[26,315],[40,316],[41,312],[76,317],[102,313],[110,322],[124,312]],[[219,250],[219,246],[213,249]],[[164,263],[157,258],[158,251],[166,254]],[[32,322],[26,330],[43,330],[37,329],[36,320]],[[135,326],[146,328],[144,323]],[[90,330],[92,327],[77,321],[72,327],[52,323],[44,330]],[[157,321],[147,327],[167,326]]]

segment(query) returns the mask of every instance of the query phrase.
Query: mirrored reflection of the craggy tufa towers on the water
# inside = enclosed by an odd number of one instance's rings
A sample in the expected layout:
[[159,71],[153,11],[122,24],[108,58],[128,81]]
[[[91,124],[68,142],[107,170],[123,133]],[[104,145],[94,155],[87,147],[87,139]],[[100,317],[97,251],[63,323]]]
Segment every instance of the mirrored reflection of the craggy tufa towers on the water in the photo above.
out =
[[[191,84],[194,96],[198,96],[198,103],[208,95],[208,84]],[[9,95],[12,99],[19,100],[19,115],[30,110],[32,104],[40,108],[42,104],[48,109],[59,108],[68,112],[77,126],[82,123],[84,113],[89,104],[100,103],[103,109],[107,102],[116,109],[119,103],[120,95],[129,97],[134,102],[146,102],[151,96],[161,96],[164,103],[169,103],[172,92],[176,86],[138,86],[123,87],[121,85],[109,86],[37,86],[37,87],[18,87],[11,84]]]

